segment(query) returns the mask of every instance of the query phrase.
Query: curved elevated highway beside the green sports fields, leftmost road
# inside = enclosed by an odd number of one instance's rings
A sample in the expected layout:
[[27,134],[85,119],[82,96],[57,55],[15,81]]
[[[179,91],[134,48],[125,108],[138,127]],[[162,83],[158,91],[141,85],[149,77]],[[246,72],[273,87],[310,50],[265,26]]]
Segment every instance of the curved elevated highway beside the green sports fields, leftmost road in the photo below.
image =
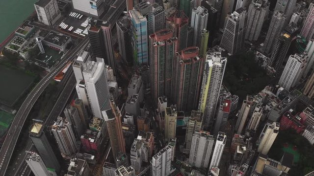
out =
[[7,137],[4,140],[0,151],[0,176],[5,176],[6,169],[10,162],[14,147],[21,133],[21,129],[26,121],[27,115],[40,94],[50,84],[53,78],[63,69],[70,61],[72,61],[78,53],[80,53],[88,44],[88,36],[86,36],[74,49],[69,51],[63,59],[55,66],[50,73],[48,73],[27,95],[25,101],[17,112],[11,127],[8,131]]

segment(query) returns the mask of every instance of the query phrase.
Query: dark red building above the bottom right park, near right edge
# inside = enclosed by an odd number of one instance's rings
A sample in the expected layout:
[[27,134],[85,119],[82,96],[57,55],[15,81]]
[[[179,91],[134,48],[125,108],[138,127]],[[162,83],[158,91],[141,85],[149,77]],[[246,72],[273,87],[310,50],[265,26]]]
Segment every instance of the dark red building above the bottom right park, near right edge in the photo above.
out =
[[288,110],[280,119],[280,130],[289,128],[294,129],[297,133],[304,132],[305,126],[303,125],[306,118],[301,118],[299,113],[293,110]]

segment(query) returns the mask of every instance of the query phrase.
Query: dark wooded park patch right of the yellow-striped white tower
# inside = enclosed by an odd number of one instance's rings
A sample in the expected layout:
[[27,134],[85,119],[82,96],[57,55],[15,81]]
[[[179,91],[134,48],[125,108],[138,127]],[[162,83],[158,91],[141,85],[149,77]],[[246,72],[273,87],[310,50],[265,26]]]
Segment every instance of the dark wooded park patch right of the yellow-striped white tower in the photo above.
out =
[[256,94],[270,82],[266,71],[255,61],[255,53],[243,52],[227,60],[223,84],[243,100],[247,94]]

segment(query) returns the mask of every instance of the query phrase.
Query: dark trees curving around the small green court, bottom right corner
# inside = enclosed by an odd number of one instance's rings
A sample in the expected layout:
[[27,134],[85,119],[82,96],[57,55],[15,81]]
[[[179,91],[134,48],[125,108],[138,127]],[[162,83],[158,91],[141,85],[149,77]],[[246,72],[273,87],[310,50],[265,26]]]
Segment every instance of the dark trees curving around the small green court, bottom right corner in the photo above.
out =
[[296,146],[300,153],[298,163],[293,163],[289,176],[304,176],[314,170],[314,148],[309,141],[298,134],[295,130],[288,129],[279,131],[275,142],[273,143],[268,157],[280,161],[284,154],[284,145],[288,143]]

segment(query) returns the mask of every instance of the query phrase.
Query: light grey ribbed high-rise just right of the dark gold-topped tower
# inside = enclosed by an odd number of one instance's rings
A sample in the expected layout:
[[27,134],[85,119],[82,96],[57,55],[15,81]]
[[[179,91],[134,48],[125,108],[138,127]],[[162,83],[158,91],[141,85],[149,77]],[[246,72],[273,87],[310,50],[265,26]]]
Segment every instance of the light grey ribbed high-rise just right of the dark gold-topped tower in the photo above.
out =
[[77,152],[77,141],[68,121],[58,117],[52,125],[52,133],[63,157],[71,156]]

